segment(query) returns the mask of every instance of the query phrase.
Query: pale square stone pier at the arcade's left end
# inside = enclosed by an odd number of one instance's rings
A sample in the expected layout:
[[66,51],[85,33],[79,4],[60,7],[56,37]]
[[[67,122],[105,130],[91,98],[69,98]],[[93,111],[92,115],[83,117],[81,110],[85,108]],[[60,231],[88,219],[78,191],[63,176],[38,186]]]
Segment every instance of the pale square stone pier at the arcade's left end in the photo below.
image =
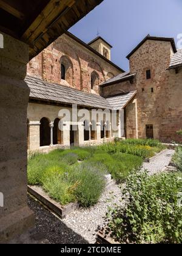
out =
[[38,150],[40,147],[40,122],[29,122],[30,151]]

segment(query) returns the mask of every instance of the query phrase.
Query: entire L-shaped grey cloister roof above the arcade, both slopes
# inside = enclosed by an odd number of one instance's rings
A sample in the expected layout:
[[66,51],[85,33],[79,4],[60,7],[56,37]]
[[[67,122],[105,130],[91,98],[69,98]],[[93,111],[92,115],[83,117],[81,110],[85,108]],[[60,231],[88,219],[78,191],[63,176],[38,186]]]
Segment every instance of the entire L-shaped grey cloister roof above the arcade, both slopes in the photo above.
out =
[[25,82],[30,88],[30,99],[52,101],[59,104],[76,104],[91,108],[112,109],[116,107],[118,110],[126,105],[134,95],[133,92],[130,92],[105,99],[64,85],[50,84],[35,77],[27,76]]

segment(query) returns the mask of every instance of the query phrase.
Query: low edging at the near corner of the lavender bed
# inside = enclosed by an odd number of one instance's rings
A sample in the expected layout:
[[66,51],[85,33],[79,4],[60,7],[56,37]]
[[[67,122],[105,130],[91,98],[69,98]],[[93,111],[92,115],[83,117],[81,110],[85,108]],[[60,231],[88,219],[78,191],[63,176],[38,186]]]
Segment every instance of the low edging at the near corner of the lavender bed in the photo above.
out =
[[40,187],[28,186],[28,192],[32,194],[32,196],[36,197],[36,199],[38,199],[47,208],[52,210],[52,212],[56,213],[56,215],[58,215],[61,219],[66,218],[69,213],[72,213],[78,207],[76,203],[70,203],[62,206],[45,194]]

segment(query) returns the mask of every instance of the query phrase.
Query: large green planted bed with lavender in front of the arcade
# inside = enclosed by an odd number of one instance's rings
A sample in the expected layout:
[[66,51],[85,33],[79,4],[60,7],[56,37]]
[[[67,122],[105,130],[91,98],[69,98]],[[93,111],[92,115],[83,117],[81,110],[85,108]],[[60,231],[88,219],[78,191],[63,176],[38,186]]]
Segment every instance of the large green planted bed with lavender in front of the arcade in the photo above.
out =
[[57,149],[49,154],[30,154],[29,185],[41,186],[61,205],[78,202],[95,205],[106,187],[106,176],[123,183],[144,158],[164,147],[155,140],[115,141],[91,148]]

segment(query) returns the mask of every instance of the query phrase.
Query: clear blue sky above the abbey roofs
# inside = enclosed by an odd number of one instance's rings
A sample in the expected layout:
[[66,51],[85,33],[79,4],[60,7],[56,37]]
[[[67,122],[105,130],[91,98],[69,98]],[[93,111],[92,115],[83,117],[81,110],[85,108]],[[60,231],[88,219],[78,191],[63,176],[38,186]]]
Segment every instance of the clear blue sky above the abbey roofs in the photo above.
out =
[[104,0],[70,29],[88,43],[101,37],[112,44],[112,61],[126,71],[126,55],[147,34],[174,37],[182,34],[182,0]]

